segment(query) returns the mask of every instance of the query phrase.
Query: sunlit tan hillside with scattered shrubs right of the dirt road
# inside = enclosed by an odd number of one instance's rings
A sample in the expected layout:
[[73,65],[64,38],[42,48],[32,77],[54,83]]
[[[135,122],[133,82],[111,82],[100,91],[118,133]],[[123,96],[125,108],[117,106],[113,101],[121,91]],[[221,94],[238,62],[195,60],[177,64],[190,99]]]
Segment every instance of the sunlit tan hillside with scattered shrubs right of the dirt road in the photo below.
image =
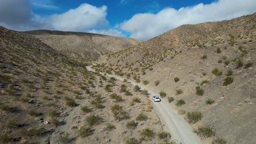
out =
[[[200,112],[201,121],[192,127],[206,143],[219,137],[228,144],[253,144],[255,32],[256,13],[184,25],[130,49],[102,56],[95,69],[166,93],[166,100],[174,99],[171,105],[185,119],[189,112]],[[202,130],[214,134],[203,135]]]

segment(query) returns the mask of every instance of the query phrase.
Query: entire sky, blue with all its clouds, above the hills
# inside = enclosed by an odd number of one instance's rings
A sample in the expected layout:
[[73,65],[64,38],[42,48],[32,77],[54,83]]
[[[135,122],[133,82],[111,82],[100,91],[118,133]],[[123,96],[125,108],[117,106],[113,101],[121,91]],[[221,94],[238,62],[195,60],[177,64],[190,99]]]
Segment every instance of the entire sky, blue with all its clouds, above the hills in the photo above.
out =
[[255,11],[255,0],[3,0],[0,26],[148,40],[181,25],[230,20]]

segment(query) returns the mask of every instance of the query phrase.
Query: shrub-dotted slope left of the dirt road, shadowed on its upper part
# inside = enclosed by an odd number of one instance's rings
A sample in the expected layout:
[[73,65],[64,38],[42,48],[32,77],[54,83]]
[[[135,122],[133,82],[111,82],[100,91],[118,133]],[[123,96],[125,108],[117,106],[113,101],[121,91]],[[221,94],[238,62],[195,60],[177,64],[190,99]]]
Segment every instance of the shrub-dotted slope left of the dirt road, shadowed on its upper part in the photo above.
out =
[[170,140],[149,98],[130,83],[90,72],[39,39],[4,27],[0,51],[0,143]]

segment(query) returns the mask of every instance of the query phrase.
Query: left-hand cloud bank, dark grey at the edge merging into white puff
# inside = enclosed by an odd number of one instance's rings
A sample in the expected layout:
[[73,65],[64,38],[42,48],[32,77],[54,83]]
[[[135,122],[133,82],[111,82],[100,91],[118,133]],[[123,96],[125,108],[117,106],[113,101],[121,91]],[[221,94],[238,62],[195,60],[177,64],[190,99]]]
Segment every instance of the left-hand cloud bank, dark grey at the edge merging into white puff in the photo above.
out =
[[[90,29],[101,29],[108,26],[107,7],[104,5],[94,7],[84,3],[66,13],[40,17],[33,13],[30,2],[29,0],[0,1],[0,25],[16,31],[51,29],[75,32],[88,32]],[[49,5],[46,5],[48,3],[32,4],[41,8],[50,8]],[[18,5],[19,8],[17,8]]]

